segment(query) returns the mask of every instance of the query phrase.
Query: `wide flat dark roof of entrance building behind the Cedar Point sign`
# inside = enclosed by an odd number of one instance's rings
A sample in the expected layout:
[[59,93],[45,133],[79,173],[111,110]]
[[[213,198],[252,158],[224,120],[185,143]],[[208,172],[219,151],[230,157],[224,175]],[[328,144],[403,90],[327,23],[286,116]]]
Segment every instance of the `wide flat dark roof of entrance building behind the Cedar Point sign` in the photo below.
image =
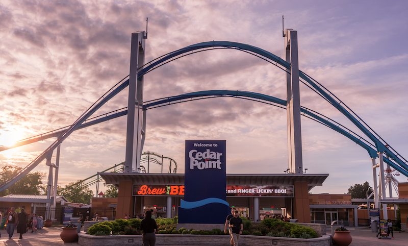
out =
[[[142,173],[98,173],[107,184],[119,186],[120,180],[131,180],[134,184],[184,185],[184,174]],[[227,185],[293,185],[307,182],[309,190],[321,186],[328,174],[227,174]]]

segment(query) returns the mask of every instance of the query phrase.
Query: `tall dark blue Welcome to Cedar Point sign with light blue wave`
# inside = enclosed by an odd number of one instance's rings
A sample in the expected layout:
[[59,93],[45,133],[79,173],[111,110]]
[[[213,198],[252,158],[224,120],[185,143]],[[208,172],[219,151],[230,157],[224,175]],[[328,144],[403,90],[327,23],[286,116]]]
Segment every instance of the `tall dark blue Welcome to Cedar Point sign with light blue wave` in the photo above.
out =
[[184,201],[179,223],[224,224],[226,202],[225,140],[186,140]]

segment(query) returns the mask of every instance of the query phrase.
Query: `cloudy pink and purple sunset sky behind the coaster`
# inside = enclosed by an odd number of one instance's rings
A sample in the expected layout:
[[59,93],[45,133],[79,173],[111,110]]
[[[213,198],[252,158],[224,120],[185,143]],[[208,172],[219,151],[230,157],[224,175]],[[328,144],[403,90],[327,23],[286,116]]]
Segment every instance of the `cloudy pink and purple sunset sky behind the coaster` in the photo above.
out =
[[[213,40],[250,44],[284,58],[284,15],[285,28],[298,33],[299,69],[408,158],[407,12],[406,1],[2,0],[0,145],[71,125],[129,75],[131,34],[146,30],[146,17],[148,62]],[[145,75],[143,100],[201,90],[251,91],[286,100],[285,76],[244,52],[200,52]],[[126,107],[127,92],[94,116]],[[303,84],[300,104],[363,136]],[[174,159],[177,173],[184,173],[185,140],[197,139],[226,140],[227,174],[283,174],[288,168],[284,109],[217,98],[151,109],[146,120],[143,151]],[[373,186],[367,151],[311,119],[302,117],[301,124],[303,168],[307,174],[329,174],[312,193],[347,193],[366,181]],[[125,134],[126,116],[71,134],[61,145],[59,185],[124,161]],[[54,140],[0,152],[0,168],[26,166]],[[45,161],[34,169],[47,170]],[[150,165],[151,173],[159,171]]]

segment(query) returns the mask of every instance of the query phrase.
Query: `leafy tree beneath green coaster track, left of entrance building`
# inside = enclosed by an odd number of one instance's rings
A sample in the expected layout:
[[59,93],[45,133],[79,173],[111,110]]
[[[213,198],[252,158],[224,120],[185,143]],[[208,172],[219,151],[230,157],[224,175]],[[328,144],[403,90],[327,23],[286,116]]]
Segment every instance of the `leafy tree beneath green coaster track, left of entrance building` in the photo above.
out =
[[84,186],[84,182],[78,180],[77,182],[71,182],[65,185],[63,190],[60,190],[57,194],[63,195],[71,203],[84,203],[89,204],[93,196],[93,191]]

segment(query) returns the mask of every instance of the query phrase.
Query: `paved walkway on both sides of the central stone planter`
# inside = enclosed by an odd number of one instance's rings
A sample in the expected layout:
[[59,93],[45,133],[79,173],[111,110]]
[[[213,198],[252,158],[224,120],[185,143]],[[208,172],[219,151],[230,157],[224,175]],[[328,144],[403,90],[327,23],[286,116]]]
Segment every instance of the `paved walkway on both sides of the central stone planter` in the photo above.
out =
[[[408,232],[394,232],[395,239],[378,239],[375,237],[376,233],[371,232],[369,228],[348,228],[351,231],[351,237],[353,241],[350,246],[408,246]],[[30,230],[29,230],[30,231]],[[16,231],[11,239],[9,239],[6,230],[0,230],[1,238],[0,245],[6,246],[54,246],[54,245],[66,245],[66,246],[79,246],[77,242],[64,243],[60,238],[61,227],[49,227],[37,230],[36,233],[25,233],[23,239],[18,239],[20,234]],[[327,228],[327,234],[331,234],[331,229]],[[119,245],[118,245],[119,246]]]

